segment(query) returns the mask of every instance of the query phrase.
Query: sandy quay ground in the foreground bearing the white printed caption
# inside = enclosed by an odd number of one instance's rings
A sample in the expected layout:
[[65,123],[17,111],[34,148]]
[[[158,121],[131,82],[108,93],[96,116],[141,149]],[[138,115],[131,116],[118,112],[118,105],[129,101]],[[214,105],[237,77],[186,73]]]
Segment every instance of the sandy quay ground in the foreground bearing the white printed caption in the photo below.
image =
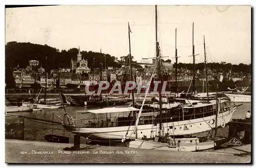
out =
[[[6,163],[249,163],[251,145],[212,152],[180,152],[5,139]],[[225,155],[225,156],[223,156]],[[241,155],[241,156],[238,156]],[[242,156],[244,155],[244,156]]]

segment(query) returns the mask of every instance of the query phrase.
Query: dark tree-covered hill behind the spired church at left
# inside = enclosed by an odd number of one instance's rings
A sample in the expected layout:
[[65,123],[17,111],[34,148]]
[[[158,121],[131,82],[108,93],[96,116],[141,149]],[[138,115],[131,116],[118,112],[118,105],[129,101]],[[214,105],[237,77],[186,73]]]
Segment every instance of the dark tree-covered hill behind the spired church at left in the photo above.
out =
[[[54,68],[70,68],[71,67],[71,59],[76,60],[78,49],[72,48],[68,51],[61,50],[59,52],[58,49],[45,45],[32,44],[26,42],[8,42],[6,44],[6,67],[17,67],[19,64],[20,68],[26,68],[28,65],[28,61],[32,59],[37,59],[39,61],[39,65],[46,68],[46,56],[47,56],[47,68],[46,71],[50,71],[50,69]],[[81,51],[81,55],[83,59],[88,60],[88,66],[91,68],[93,63],[93,59],[95,59],[95,68],[99,67],[99,63],[113,66],[113,67],[121,67],[119,62],[116,62],[116,57],[111,56],[109,54],[96,53],[92,51]]]

